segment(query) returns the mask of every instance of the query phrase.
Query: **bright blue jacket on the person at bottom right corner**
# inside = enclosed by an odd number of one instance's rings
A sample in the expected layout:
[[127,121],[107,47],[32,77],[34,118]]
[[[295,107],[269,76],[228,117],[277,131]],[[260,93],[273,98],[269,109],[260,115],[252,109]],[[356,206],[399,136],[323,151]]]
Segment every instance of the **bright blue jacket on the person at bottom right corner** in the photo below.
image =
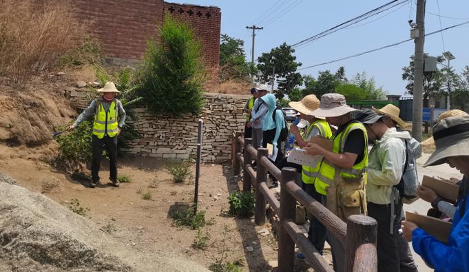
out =
[[412,233],[412,245],[415,252],[437,272],[469,271],[469,196],[467,193],[466,209],[461,216],[463,203],[464,201],[459,201],[457,205],[448,244],[439,242],[423,229],[414,229]]

